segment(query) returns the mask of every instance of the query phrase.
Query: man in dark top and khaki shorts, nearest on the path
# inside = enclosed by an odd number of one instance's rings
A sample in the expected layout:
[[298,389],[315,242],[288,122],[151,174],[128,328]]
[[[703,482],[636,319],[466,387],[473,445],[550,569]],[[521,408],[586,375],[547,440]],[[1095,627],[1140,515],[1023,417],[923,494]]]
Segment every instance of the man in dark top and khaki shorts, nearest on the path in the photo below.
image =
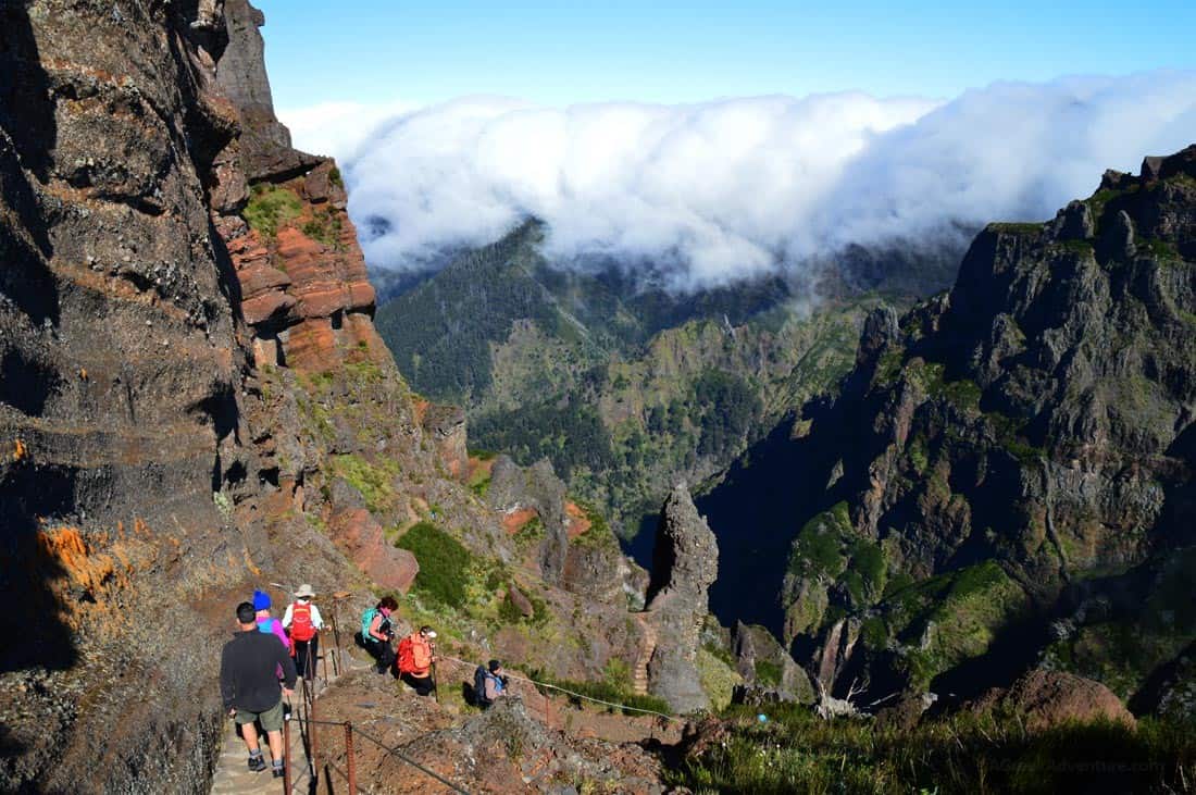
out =
[[[289,698],[294,692],[295,665],[273,634],[258,630],[252,604],[243,601],[237,605],[237,625],[240,631],[225,643],[220,654],[220,698],[225,710],[240,727],[240,735],[249,748],[249,769],[254,772],[266,770],[255,727],[255,722],[261,722],[270,745],[274,777],[281,778],[282,697]],[[280,668],[283,680],[281,692]]]

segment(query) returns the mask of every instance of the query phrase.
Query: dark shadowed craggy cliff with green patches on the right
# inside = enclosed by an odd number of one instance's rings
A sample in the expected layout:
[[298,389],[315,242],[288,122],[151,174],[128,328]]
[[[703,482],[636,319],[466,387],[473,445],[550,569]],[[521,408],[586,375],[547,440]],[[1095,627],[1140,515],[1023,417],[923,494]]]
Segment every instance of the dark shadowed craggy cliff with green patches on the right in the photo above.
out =
[[1194,259],[1189,148],[990,225],[948,294],[868,319],[842,397],[777,453],[805,483],[774,628],[812,673],[959,691],[1037,663],[1128,698],[1180,653]]

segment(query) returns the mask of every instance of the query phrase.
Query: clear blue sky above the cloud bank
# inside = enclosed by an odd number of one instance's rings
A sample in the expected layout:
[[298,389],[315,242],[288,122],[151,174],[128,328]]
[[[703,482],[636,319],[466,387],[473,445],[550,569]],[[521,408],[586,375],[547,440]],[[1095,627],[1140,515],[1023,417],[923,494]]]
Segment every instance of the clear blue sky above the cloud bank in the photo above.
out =
[[468,94],[550,105],[842,90],[950,98],[995,80],[1196,67],[1191,0],[257,5],[283,109]]

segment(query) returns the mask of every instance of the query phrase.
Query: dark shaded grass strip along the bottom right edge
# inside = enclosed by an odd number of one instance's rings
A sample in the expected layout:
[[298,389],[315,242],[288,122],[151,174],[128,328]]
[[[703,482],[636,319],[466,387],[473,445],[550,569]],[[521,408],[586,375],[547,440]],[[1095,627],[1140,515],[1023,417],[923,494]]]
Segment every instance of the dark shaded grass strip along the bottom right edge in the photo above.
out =
[[[1196,744],[1178,723],[1072,724],[1031,733],[1015,715],[960,713],[914,729],[734,705],[731,738],[666,773],[719,793],[1190,791]],[[1188,782],[1185,784],[1185,782]]]

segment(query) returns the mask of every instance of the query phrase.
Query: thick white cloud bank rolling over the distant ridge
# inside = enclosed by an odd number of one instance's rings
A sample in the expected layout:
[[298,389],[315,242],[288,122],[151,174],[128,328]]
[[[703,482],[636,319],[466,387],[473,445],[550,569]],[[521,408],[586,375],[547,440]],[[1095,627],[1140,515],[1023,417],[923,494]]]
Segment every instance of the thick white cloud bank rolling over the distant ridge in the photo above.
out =
[[382,123],[342,170],[373,265],[419,267],[531,215],[559,258],[609,256],[694,287],[852,243],[933,244],[960,225],[1045,219],[1104,169],[1192,139],[1196,73],[1157,72],[995,84],[946,103],[468,98]]

